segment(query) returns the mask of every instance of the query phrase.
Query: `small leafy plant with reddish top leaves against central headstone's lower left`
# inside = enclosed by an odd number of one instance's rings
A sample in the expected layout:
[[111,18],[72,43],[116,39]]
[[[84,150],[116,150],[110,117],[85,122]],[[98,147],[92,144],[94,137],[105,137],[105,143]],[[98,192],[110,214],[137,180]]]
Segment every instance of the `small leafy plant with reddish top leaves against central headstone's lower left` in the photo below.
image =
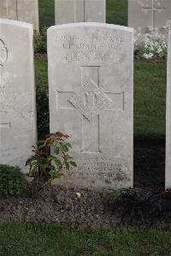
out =
[[26,164],[29,165],[28,175],[33,177],[33,182],[51,182],[62,176],[62,170],[69,170],[71,165],[77,166],[68,154],[72,147],[68,138],[67,134],[56,132],[41,140],[38,149],[33,146],[34,156]]

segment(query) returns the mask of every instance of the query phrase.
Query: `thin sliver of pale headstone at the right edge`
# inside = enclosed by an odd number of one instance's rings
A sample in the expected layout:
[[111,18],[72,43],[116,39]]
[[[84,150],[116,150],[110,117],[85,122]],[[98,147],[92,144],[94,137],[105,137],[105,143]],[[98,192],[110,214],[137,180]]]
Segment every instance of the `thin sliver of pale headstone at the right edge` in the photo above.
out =
[[165,187],[171,188],[171,32],[168,33]]

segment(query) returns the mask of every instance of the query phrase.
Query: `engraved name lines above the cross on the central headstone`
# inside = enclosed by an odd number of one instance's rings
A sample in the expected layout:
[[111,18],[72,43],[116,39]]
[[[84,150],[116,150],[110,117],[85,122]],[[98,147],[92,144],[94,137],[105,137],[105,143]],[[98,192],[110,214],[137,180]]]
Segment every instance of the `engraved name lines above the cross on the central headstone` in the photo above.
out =
[[112,62],[117,63],[122,58],[125,44],[120,33],[106,37],[93,34],[91,36],[65,34],[56,36],[56,59],[63,62]]

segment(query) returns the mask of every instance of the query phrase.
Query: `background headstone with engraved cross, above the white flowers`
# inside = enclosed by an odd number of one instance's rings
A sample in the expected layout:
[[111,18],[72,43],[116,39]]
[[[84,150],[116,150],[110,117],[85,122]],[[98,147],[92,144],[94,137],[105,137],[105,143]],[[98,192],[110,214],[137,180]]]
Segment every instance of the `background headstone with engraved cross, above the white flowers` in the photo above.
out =
[[128,0],[128,26],[136,30],[166,27],[170,18],[170,0]]

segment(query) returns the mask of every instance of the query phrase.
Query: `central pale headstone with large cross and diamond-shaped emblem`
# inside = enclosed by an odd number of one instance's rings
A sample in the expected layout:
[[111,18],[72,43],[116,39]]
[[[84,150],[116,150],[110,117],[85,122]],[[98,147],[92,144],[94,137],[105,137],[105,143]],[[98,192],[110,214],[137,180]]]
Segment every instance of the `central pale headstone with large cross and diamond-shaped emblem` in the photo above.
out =
[[50,132],[72,138],[77,168],[61,184],[133,186],[133,29],[74,23],[48,29]]

